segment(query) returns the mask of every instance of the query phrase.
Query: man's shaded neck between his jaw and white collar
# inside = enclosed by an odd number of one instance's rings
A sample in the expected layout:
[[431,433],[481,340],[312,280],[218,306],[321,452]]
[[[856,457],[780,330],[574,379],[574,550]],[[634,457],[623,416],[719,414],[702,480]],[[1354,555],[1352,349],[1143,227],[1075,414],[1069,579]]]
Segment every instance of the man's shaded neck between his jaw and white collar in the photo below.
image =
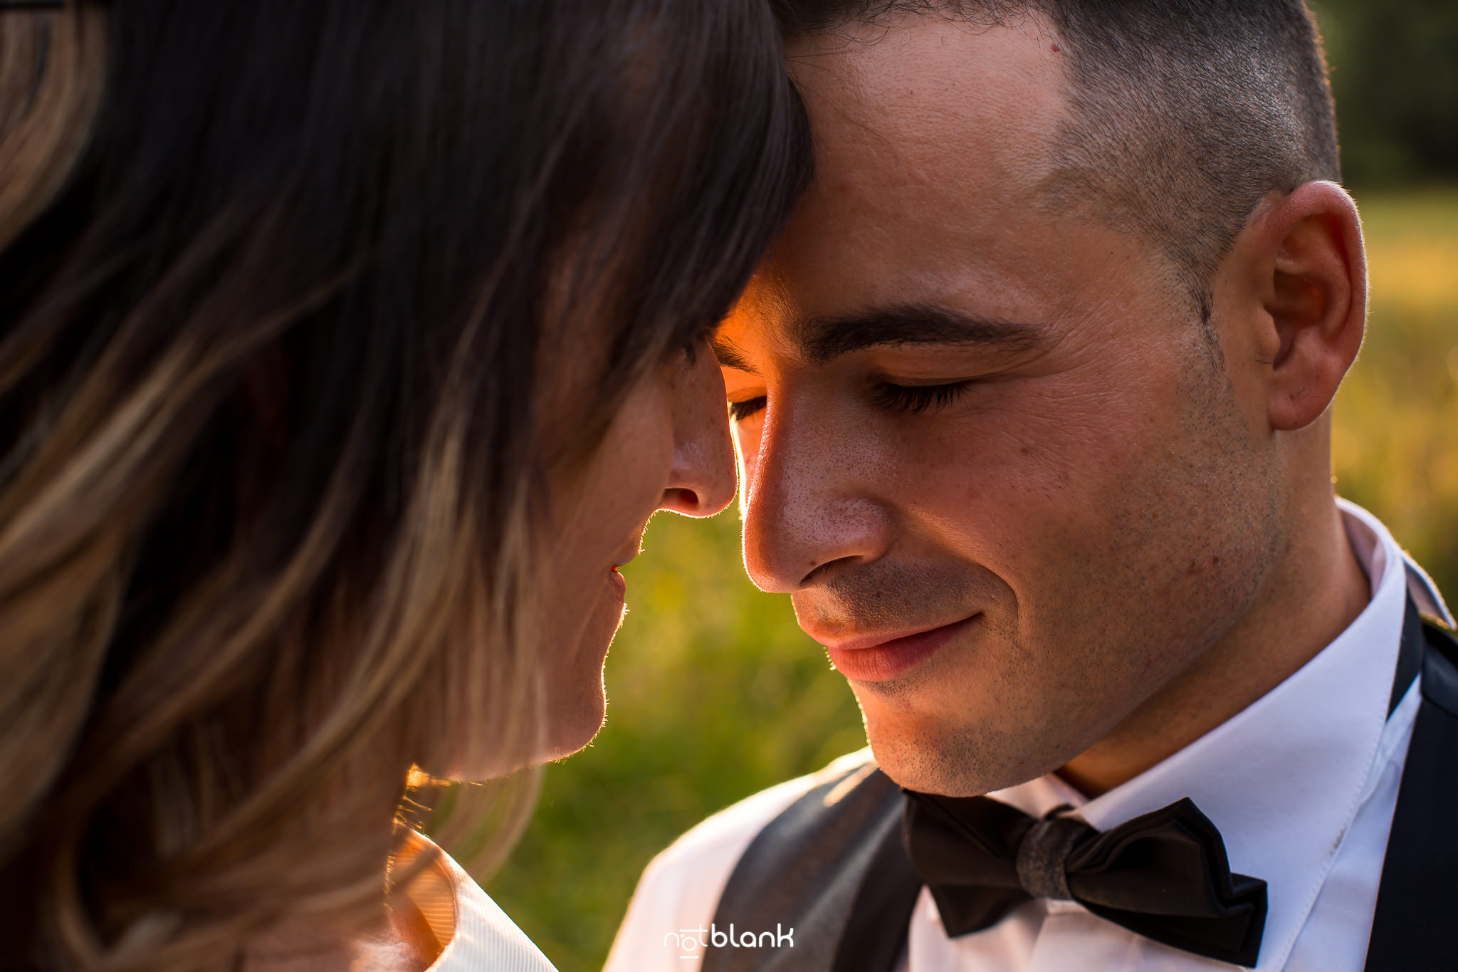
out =
[[[1251,611],[1194,665],[1059,769],[1088,797],[1133,780],[1236,716],[1331,644],[1372,597],[1336,504]],[[1373,579],[1375,583],[1376,579]]]

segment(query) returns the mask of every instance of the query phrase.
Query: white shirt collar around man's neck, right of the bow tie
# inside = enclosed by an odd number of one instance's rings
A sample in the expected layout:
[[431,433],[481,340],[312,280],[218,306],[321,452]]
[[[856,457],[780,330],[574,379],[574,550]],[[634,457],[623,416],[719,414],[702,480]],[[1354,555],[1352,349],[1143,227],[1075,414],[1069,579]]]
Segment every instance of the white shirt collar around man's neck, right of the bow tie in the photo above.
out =
[[[1376,517],[1346,501],[1340,509],[1372,579],[1372,599],[1296,673],[1094,800],[1053,774],[989,794],[1038,816],[1069,803],[1101,831],[1190,797],[1220,829],[1231,870],[1268,885],[1258,969],[1284,965],[1356,815],[1387,723],[1408,584],[1416,584]],[[1430,584],[1426,595],[1446,614]]]

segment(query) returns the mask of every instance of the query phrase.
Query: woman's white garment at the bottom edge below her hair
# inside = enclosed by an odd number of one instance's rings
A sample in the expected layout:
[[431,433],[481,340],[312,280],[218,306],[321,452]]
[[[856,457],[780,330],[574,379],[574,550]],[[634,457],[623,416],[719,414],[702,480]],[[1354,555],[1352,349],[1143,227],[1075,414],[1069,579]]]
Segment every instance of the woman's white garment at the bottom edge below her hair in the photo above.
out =
[[[407,857],[434,848],[420,834],[413,834],[411,842]],[[557,972],[526,933],[445,851],[437,866],[420,874],[405,895],[436,941],[445,944],[429,972]]]

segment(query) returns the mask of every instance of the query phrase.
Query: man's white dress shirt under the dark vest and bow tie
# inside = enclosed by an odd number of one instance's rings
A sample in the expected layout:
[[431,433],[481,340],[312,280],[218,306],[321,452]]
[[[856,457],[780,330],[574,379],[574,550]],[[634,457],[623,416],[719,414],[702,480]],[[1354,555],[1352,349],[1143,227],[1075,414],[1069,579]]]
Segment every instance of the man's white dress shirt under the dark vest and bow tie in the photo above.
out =
[[[1340,501],[1372,600],[1295,675],[1152,769],[1088,800],[1050,774],[989,796],[1041,816],[1069,803],[1099,831],[1190,797],[1220,829],[1231,870],[1268,885],[1260,972],[1362,972],[1398,781],[1419,707],[1414,682],[1388,717],[1407,593],[1451,622],[1432,583],[1369,513]],[[847,759],[865,759],[850,756]],[[679,838],[643,871],[607,972],[697,972],[682,933],[709,927],[754,836],[822,774],[765,790]],[[924,887],[908,972],[1210,972],[1070,901],[1035,899],[949,938]]]

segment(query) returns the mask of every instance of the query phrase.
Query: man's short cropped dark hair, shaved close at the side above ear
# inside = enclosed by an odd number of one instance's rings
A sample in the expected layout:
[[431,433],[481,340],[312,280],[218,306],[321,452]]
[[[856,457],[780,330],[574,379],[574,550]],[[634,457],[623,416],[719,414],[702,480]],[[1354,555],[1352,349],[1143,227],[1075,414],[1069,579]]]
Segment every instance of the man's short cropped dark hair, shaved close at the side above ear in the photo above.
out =
[[907,12],[1040,13],[1067,54],[1050,198],[1145,236],[1209,319],[1210,277],[1260,200],[1340,181],[1321,39],[1302,0],[771,0],[787,39]]

